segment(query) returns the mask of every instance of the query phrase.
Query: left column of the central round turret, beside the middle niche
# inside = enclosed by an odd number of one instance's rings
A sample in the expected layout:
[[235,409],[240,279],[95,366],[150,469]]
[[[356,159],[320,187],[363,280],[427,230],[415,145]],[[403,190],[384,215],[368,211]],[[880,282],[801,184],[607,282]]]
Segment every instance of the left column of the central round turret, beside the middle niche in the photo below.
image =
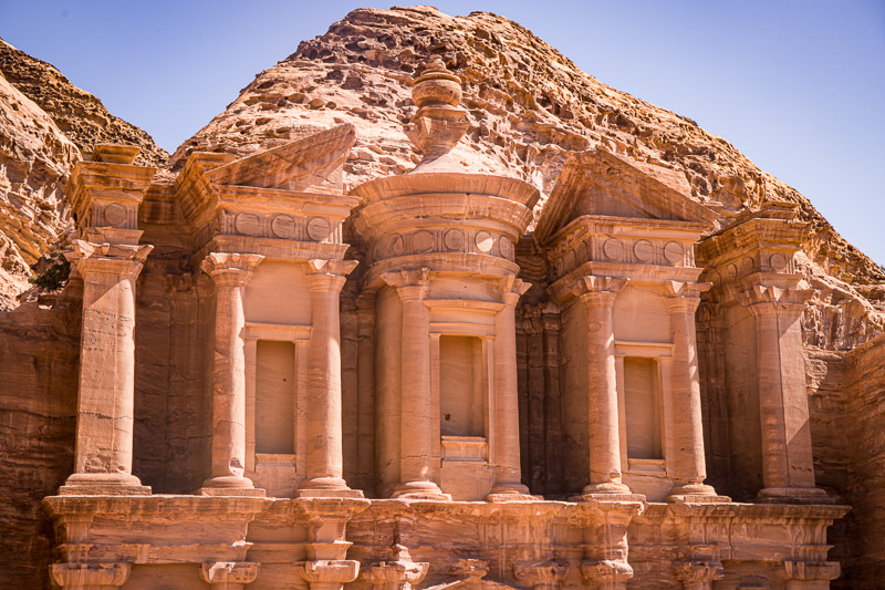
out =
[[384,275],[403,304],[400,472],[393,496],[448,500],[434,480],[438,417],[430,389],[430,318],[424,304],[429,273],[423,268]]

